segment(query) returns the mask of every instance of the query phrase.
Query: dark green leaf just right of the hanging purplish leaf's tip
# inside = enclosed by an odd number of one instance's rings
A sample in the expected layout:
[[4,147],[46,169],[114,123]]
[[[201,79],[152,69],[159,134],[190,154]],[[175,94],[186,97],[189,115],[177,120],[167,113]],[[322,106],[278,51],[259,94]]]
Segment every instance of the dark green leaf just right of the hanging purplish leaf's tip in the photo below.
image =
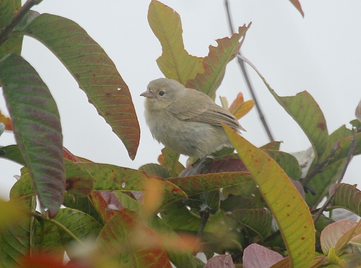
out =
[[[86,213],[71,208],[60,209],[53,221],[59,222],[68,229],[69,232],[73,233],[77,238],[84,242],[89,241],[89,239],[95,239],[103,227]],[[73,238],[65,232],[63,228],[60,228],[58,225],[57,227],[66,253],[71,259],[73,258],[73,252],[71,251],[72,248],[69,247],[69,243],[73,241]]]

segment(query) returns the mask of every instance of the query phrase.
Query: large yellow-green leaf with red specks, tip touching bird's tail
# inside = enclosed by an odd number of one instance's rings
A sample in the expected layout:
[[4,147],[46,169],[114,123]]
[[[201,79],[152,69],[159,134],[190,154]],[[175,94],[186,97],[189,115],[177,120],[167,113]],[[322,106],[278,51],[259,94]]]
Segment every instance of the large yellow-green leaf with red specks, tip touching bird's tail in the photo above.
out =
[[307,204],[270,156],[230,127],[223,127],[278,224],[291,267],[308,267],[314,258],[315,231]]

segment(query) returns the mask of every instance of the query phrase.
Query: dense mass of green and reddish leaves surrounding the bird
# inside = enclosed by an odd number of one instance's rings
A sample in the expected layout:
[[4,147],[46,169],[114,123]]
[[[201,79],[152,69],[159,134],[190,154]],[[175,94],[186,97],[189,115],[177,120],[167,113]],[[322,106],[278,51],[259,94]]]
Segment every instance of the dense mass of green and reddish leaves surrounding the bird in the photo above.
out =
[[[291,2],[303,14],[299,2]],[[237,55],[303,129],[312,146],[308,151],[291,155],[279,151],[279,142],[257,148],[225,126],[237,153],[224,148],[194,167],[184,168],[169,148],[162,150],[159,164],[139,170],[93,163],[62,146],[56,103],[20,56],[22,36],[56,55],[134,159],[140,130],[128,87],[85,30],[30,10],[38,3],[29,0],[20,7],[19,0],[0,0],[0,86],[10,114],[0,122],[17,141],[1,147],[0,157],[23,165],[10,201],[0,201],[1,267],[63,267],[64,253],[70,259],[66,267],[360,265],[358,223],[334,222],[331,213],[343,208],[361,216],[360,190],[341,182],[351,157],[361,154],[360,105],[352,130],[342,126],[329,134],[308,92],[278,96]],[[148,22],[162,46],[157,64],[165,77],[213,99],[226,65],[252,28],[243,25],[230,38],[216,40],[201,58],[184,49],[173,9],[152,0]],[[230,107],[222,103],[237,118],[254,105],[242,94]],[[325,197],[325,206],[316,209]],[[207,264],[197,252],[205,254]]]

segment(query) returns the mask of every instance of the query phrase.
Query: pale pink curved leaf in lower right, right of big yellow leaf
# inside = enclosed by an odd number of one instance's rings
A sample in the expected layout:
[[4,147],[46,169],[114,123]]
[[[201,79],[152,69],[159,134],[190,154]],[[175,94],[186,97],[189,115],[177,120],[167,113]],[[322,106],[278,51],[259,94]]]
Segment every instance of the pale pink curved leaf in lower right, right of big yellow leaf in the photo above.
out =
[[323,254],[327,255],[330,248],[336,246],[339,239],[349,230],[355,228],[355,226],[357,226],[357,222],[349,220],[342,220],[327,225],[319,238]]

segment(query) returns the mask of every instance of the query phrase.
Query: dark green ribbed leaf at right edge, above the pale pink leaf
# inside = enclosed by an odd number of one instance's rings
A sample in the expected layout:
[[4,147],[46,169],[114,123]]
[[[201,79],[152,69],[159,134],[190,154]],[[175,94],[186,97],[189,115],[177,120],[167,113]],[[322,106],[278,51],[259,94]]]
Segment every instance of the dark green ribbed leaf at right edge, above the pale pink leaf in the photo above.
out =
[[361,216],[361,191],[353,185],[341,183],[336,189],[333,204]]

